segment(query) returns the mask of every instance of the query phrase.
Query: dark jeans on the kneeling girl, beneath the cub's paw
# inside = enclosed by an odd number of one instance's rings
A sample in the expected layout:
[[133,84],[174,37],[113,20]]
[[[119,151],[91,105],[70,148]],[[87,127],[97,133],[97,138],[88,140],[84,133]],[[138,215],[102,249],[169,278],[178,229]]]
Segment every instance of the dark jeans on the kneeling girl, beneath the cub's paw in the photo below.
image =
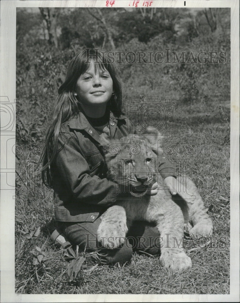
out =
[[[134,251],[139,254],[160,255],[160,235],[155,225],[145,221],[135,221],[129,228],[124,244],[115,249],[102,247],[97,240],[97,230],[101,218],[94,222],[58,222],[72,244],[86,253],[97,252],[101,263],[114,265],[131,260]],[[94,259],[94,258],[93,258]]]

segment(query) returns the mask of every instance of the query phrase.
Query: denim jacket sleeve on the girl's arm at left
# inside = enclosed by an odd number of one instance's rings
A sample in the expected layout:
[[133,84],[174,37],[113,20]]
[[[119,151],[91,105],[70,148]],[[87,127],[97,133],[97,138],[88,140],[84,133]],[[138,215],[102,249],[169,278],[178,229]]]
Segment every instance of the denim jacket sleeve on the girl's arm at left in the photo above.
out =
[[89,175],[89,166],[85,160],[78,140],[67,132],[59,133],[56,168],[74,201],[109,206],[116,200],[109,196],[117,194],[118,185],[106,178]]

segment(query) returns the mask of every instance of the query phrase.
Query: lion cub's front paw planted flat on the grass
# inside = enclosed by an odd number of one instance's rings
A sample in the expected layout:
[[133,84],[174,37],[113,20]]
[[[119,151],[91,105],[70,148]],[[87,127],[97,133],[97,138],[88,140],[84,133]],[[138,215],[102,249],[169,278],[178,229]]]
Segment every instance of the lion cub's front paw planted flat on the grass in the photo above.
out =
[[171,271],[183,271],[192,267],[191,259],[182,249],[164,249],[160,261],[166,269]]

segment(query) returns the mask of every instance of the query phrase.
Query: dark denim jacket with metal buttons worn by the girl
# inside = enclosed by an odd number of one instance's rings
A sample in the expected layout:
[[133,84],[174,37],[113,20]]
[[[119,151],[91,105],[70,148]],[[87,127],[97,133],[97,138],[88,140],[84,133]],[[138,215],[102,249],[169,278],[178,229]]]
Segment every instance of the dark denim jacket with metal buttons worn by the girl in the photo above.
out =
[[[110,113],[112,138],[128,134],[125,115]],[[57,221],[91,222],[114,204],[109,196],[117,194],[116,183],[105,178],[104,157],[98,132],[82,112],[63,123],[56,160],[51,165],[54,210]],[[163,159],[161,169],[172,165]],[[163,178],[172,175],[165,173]]]

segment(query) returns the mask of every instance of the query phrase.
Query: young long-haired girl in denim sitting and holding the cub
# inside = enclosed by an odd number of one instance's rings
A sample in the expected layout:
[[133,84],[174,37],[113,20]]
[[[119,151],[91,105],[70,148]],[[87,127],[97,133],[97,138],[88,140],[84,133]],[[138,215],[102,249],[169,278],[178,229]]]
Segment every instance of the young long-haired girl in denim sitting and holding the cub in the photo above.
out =
[[[135,222],[117,249],[103,248],[97,241],[101,214],[116,201],[108,196],[118,191],[105,176],[100,135],[128,134],[117,68],[97,49],[83,49],[70,61],[58,93],[46,132],[42,179],[54,190],[55,217],[63,233],[110,265],[129,261],[133,251],[158,254],[159,245],[153,241],[159,238],[158,230],[147,222]],[[166,167],[172,165],[162,159],[161,170]],[[173,192],[172,174],[162,175]],[[157,183],[147,193],[155,195]]]

